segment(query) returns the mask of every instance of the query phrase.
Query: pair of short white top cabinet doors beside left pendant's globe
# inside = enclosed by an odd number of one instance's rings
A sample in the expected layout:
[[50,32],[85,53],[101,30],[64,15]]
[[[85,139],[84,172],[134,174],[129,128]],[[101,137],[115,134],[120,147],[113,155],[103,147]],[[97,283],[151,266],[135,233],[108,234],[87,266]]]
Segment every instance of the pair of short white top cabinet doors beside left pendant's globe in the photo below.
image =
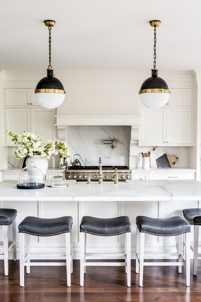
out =
[[5,106],[40,106],[34,88],[5,88]]

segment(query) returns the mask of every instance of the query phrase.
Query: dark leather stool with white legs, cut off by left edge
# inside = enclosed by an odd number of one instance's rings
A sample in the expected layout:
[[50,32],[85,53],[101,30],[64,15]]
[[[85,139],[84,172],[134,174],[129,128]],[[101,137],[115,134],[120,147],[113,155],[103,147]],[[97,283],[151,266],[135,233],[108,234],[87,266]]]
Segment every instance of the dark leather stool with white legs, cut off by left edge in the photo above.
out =
[[[13,259],[17,260],[16,254],[16,215],[15,209],[0,209],[0,225],[3,230],[3,258],[4,258],[4,273],[8,275],[8,252],[13,247]],[[12,242],[8,243],[8,226],[12,225]]]

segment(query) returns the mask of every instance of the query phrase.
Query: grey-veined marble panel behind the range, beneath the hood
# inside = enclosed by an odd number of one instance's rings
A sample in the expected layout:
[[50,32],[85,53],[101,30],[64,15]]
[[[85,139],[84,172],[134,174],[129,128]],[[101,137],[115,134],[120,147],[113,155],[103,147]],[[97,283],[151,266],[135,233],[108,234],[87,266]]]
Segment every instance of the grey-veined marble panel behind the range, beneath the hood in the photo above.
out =
[[[129,126],[68,126],[69,152],[79,154],[83,166],[98,166],[100,156],[104,166],[128,166],[129,135]],[[102,139],[116,139],[114,151],[112,142],[102,145]]]

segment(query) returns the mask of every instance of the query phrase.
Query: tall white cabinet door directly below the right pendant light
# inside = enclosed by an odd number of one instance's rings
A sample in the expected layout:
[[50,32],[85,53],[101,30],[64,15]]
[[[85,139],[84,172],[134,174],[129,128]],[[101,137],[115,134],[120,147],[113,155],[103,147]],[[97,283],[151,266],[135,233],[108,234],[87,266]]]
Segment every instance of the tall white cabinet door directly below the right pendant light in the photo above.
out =
[[141,115],[140,144],[163,144],[166,138],[166,109],[142,108]]

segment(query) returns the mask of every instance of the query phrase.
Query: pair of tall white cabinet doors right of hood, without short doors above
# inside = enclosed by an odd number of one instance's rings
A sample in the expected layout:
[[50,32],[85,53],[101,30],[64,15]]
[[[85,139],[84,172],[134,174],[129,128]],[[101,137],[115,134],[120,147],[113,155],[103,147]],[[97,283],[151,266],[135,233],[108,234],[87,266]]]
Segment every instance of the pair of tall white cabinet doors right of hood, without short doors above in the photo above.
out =
[[140,144],[145,146],[191,146],[191,108],[142,108]]

